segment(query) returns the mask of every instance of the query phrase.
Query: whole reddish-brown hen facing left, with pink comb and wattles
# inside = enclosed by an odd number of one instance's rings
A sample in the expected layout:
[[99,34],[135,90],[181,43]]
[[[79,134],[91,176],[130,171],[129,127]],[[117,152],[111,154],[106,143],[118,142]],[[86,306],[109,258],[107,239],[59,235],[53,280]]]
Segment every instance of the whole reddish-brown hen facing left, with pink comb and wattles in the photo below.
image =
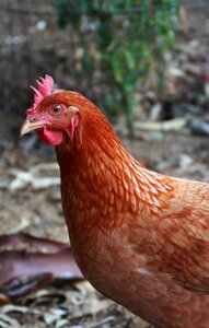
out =
[[102,113],[42,79],[22,133],[56,144],[73,254],[104,295],[155,328],[209,327],[209,185],[135,161]]

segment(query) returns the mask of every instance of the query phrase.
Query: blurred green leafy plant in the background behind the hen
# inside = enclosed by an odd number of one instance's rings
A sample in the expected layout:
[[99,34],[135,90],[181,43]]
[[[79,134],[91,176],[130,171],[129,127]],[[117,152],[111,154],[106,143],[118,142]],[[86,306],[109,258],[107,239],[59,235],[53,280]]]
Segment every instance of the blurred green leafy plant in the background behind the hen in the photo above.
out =
[[179,0],[55,0],[59,26],[74,27],[83,42],[82,69],[94,74],[94,55],[83,40],[83,19],[94,31],[94,47],[106,87],[103,107],[108,116],[126,115],[132,131],[136,91],[149,73],[155,73],[159,90],[166,86],[165,54],[175,45],[173,22]]

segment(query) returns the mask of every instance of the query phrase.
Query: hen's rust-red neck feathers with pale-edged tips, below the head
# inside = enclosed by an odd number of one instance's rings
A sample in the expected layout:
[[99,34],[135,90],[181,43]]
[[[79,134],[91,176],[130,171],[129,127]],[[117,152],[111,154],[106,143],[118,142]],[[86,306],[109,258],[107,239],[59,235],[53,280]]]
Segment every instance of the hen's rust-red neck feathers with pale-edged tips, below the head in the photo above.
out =
[[57,148],[62,197],[89,224],[114,227],[128,213],[158,213],[169,179],[133,160],[116,134],[82,131]]

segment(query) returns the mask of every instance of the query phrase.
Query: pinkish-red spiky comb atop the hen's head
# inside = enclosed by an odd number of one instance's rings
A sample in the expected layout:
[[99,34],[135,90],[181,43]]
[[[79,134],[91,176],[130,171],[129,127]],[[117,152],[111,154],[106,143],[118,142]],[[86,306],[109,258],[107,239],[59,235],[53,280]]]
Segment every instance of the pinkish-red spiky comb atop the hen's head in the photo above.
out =
[[51,94],[54,80],[49,75],[45,75],[44,78],[39,78],[40,81],[36,80],[37,89],[34,86],[31,86],[31,89],[34,91],[34,104],[31,108],[26,110],[26,115],[33,115],[36,113],[38,105],[42,103],[42,101]]

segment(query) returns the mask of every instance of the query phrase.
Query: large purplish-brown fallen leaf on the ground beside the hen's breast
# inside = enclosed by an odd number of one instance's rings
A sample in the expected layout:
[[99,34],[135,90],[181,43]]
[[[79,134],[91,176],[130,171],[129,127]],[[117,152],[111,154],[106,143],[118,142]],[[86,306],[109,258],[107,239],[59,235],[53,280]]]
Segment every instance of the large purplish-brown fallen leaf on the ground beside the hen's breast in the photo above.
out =
[[1,248],[8,245],[10,248],[16,247],[19,244],[27,246],[27,249],[0,251],[0,291],[5,297],[21,297],[55,279],[83,278],[67,244],[25,233],[0,237]]

